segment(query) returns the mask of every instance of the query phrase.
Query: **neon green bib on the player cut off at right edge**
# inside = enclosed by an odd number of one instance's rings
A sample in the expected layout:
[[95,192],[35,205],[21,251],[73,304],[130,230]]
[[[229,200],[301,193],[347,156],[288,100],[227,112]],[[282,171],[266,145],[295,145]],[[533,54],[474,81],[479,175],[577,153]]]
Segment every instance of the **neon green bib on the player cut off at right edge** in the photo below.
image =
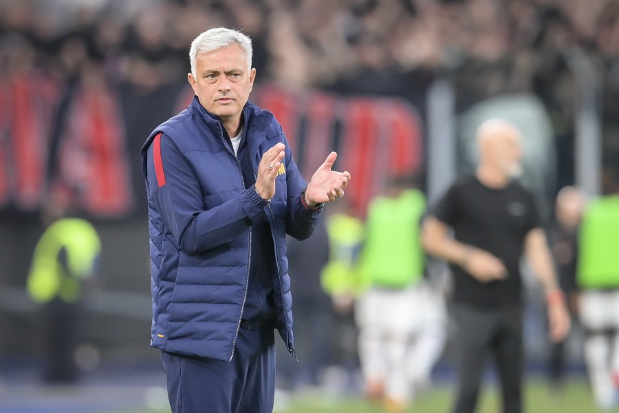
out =
[[591,202],[579,236],[578,286],[619,287],[619,195]]

